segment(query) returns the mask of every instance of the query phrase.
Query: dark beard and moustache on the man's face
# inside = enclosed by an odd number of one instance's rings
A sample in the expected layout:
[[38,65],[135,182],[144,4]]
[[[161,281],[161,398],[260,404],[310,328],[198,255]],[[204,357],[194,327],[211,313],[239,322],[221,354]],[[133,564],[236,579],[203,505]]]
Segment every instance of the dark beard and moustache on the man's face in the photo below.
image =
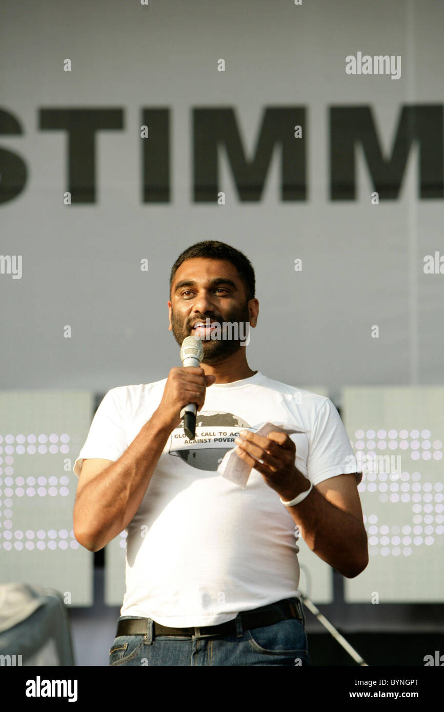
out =
[[[199,318],[199,316],[193,317],[192,322],[195,323]],[[220,363],[224,361],[228,356],[231,356],[232,354],[236,353],[240,348],[245,348],[244,346],[242,346],[242,341],[239,336],[242,335],[242,337],[245,338],[247,336],[246,330],[249,328],[249,311],[247,301],[242,307],[233,308],[232,310],[230,310],[226,318],[222,318],[218,314],[207,314],[205,316],[202,315],[202,321],[204,324],[206,319],[210,319],[211,321],[219,323],[221,326],[222,334],[224,333],[224,324],[229,322],[238,323],[239,330],[237,331],[237,339],[227,338],[226,335],[225,338],[222,338],[221,335],[220,339],[215,340],[202,339],[202,348],[204,350],[204,357],[202,358],[202,363]],[[248,326],[245,327],[242,331],[242,329],[240,328],[240,323],[247,324]],[[180,319],[180,317],[177,317],[175,315],[172,309],[171,328],[172,334],[180,346],[182,346],[182,342],[185,337],[193,335],[190,323],[187,323],[185,325]],[[225,334],[227,333],[230,333],[229,329],[226,330]],[[244,340],[244,338],[242,340]]]

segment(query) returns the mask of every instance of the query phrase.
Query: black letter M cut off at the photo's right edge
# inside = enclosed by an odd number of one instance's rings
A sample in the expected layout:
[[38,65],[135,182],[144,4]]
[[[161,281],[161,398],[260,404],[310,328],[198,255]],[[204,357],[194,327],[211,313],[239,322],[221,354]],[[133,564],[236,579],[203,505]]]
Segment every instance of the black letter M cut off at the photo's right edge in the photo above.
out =
[[413,141],[419,147],[421,199],[444,197],[443,106],[403,106],[389,157],[383,156],[370,106],[330,107],[330,197],[356,199],[356,147],[361,145],[379,198],[398,198]]

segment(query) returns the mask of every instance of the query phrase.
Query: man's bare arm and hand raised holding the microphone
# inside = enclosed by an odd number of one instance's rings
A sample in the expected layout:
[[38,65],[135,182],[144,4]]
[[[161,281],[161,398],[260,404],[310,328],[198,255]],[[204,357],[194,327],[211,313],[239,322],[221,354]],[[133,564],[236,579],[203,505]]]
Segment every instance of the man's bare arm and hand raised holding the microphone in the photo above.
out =
[[214,380],[202,368],[172,368],[158,409],[123,455],[108,466],[106,460],[84,461],[73,509],[78,543],[98,551],[128,526],[170,433],[180,424],[180,409],[187,403],[197,403],[201,409],[206,386]]

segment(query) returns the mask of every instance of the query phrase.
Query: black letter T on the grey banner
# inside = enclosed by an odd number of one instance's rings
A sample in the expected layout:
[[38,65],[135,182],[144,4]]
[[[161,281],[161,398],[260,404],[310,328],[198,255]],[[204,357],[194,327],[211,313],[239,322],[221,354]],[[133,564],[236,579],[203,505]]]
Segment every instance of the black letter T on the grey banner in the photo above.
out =
[[122,109],[41,109],[40,128],[68,131],[72,203],[95,203],[95,132],[123,128]]

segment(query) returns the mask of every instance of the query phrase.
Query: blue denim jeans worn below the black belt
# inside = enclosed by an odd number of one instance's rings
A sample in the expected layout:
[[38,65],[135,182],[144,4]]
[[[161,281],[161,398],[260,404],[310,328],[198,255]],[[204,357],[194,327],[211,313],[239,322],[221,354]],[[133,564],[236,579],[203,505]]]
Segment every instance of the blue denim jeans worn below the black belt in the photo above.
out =
[[[230,635],[201,636],[199,629],[190,637],[160,635],[153,638],[153,619],[148,618],[148,633],[145,635],[121,635],[114,639],[110,648],[109,664],[145,666],[200,666],[200,665],[310,665],[305,631],[305,612],[301,600],[299,609],[303,621],[289,618],[262,628],[244,630],[241,614],[234,619],[236,632]],[[260,609],[277,608],[281,604],[270,603]],[[259,610],[259,609],[255,609]],[[119,620],[142,618],[120,616]]]

